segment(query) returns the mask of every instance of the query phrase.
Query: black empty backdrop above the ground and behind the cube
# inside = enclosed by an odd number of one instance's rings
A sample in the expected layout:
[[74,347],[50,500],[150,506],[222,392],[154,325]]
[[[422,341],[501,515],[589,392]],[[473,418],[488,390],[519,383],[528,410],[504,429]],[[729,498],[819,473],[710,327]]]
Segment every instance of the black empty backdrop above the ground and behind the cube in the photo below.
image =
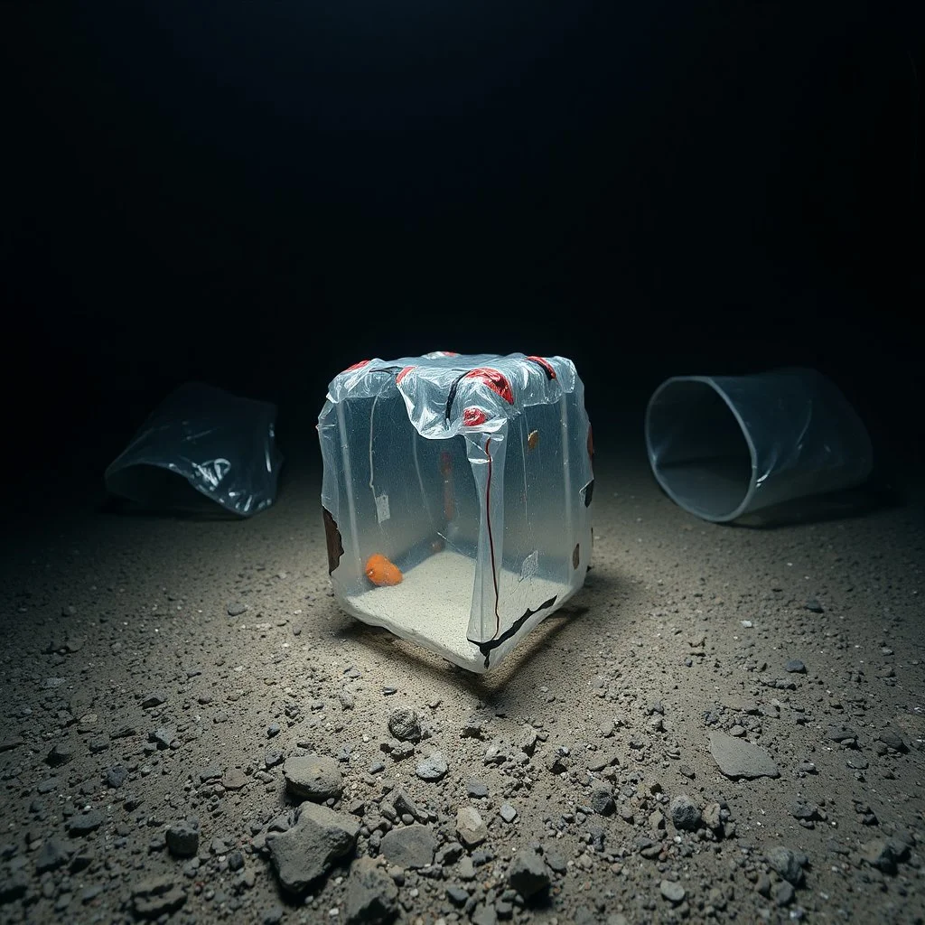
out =
[[814,364],[914,446],[918,6],[5,4],[5,462],[101,474],[192,378],[285,445],[437,349],[572,357],[605,442]]

